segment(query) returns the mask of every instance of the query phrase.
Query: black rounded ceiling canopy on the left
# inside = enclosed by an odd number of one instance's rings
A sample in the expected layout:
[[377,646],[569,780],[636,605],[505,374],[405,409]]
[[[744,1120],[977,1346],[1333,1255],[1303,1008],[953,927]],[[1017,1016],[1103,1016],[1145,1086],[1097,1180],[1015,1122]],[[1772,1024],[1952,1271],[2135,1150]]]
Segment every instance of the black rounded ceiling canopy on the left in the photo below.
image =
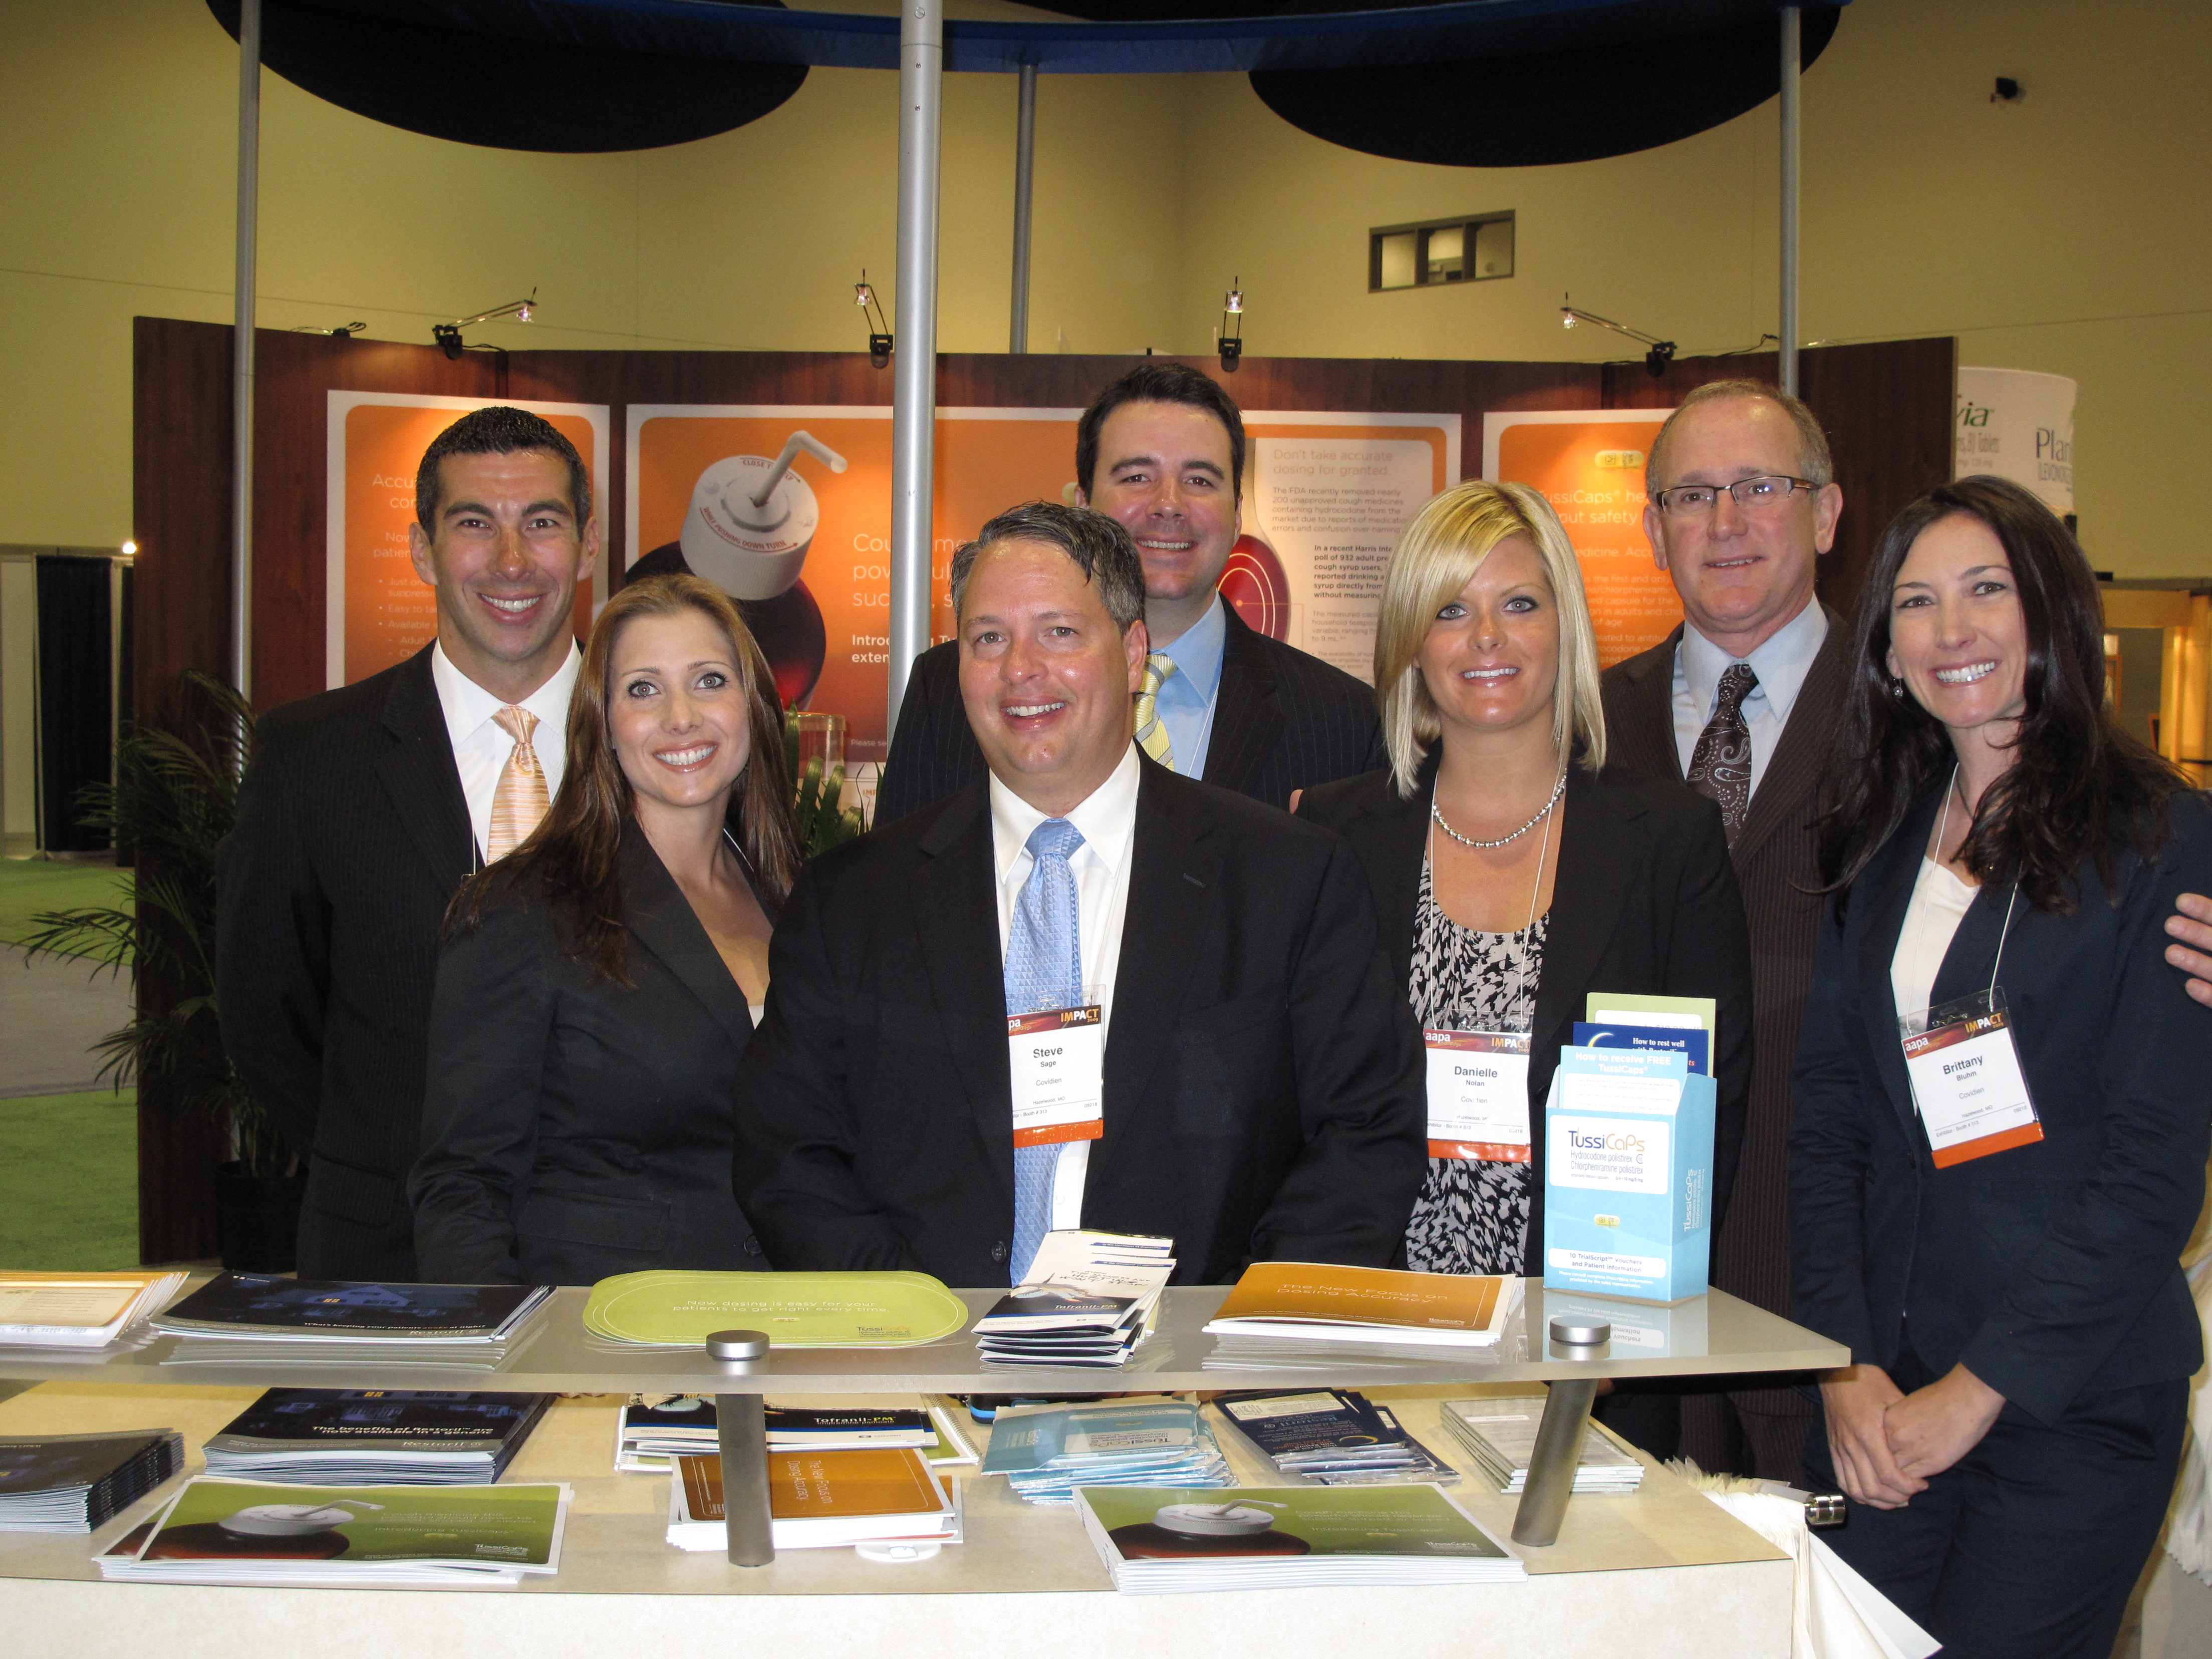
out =
[[[748,0],[781,11],[783,0]],[[237,40],[239,0],[208,0]],[[305,93],[409,133],[502,150],[653,150],[783,104],[805,64],[748,64],[484,35],[418,18],[263,0],[261,62]]]

